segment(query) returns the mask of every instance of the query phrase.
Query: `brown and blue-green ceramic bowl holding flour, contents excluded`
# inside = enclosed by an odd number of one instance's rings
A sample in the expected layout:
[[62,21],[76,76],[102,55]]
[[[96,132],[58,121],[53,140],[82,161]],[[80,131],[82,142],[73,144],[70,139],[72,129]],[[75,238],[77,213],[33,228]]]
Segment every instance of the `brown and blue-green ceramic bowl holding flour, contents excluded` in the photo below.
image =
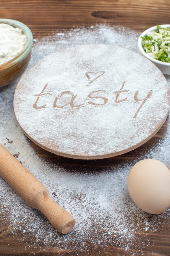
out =
[[26,35],[26,45],[18,56],[0,65],[0,87],[8,85],[18,79],[26,70],[31,58],[33,35],[31,30],[17,20],[0,19],[0,23],[6,23],[13,27],[19,27]]

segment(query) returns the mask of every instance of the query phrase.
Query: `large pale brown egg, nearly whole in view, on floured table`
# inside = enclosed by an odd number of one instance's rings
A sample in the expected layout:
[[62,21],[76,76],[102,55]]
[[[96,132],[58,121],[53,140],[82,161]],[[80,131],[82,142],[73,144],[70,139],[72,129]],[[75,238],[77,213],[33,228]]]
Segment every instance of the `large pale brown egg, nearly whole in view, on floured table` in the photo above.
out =
[[158,160],[142,160],[128,174],[128,191],[143,211],[162,213],[170,206],[170,170]]

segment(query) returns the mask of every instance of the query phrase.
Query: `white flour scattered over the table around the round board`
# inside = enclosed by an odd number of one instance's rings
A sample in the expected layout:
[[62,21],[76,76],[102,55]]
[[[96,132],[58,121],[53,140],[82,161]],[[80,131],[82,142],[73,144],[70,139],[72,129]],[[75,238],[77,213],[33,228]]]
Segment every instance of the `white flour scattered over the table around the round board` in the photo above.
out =
[[[74,44],[105,43],[124,46],[126,42],[126,48],[136,51],[138,36],[137,32],[108,26],[54,34],[53,37],[44,38],[34,45],[29,66],[44,55]],[[166,79],[170,85],[170,76],[166,76]],[[12,154],[17,154],[15,156],[18,160],[49,189],[53,199],[75,217],[76,224],[69,234],[59,234],[39,211],[29,207],[3,179],[0,179],[0,214],[4,214],[4,225],[10,224],[10,232],[13,234],[20,232],[23,237],[32,237],[28,248],[32,243],[35,247],[49,246],[57,252],[57,247],[63,249],[63,255],[64,252],[69,254],[69,249],[74,251],[74,255],[92,255],[96,249],[99,255],[106,246],[122,248],[122,255],[126,255],[126,251],[131,255],[132,249],[135,249],[136,255],[145,254],[147,248],[152,251],[152,234],[161,234],[163,226],[170,219],[170,210],[157,216],[141,211],[128,195],[126,179],[132,165],[140,159],[152,157],[168,166],[170,118],[166,121],[168,125],[163,130],[163,139],[155,136],[152,146],[142,147],[143,153],[141,148],[137,148],[135,155],[138,157],[133,160],[133,152],[124,156],[124,160],[116,157],[81,161],[53,155],[46,159],[39,154],[47,153],[37,146],[36,150],[33,149],[32,143],[23,134],[15,119],[15,86],[16,83],[0,88],[0,143],[5,144]],[[5,221],[7,216],[9,223]],[[168,254],[168,245],[166,248]],[[80,251],[81,253],[78,253]],[[104,252],[100,255],[104,255]]]

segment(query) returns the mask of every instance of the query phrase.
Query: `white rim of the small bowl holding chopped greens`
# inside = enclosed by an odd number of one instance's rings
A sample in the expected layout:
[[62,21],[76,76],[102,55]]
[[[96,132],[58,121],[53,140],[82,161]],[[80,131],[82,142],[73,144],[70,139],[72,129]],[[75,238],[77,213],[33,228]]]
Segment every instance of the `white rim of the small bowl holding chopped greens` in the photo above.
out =
[[[160,26],[161,26],[161,27],[170,27],[170,24],[161,24]],[[150,56],[144,51],[144,49],[143,49],[143,47],[142,47],[142,44],[141,44],[141,42],[142,42],[141,36],[145,36],[148,32],[153,31],[153,30],[155,30],[156,28],[157,28],[157,26],[153,26],[153,27],[149,27],[148,29],[144,30],[144,31],[140,34],[140,36],[139,36],[139,38],[138,38],[138,41],[137,41],[137,44],[138,44],[139,50],[142,52],[142,54],[143,54],[146,58],[148,58],[150,61],[155,62],[155,63],[157,63],[157,64],[159,64],[159,65],[163,65],[163,66],[168,66],[168,67],[169,67],[169,66],[170,66],[170,63],[168,63],[168,62],[163,62],[163,61],[158,61],[158,60],[156,60],[155,58],[150,57]]]

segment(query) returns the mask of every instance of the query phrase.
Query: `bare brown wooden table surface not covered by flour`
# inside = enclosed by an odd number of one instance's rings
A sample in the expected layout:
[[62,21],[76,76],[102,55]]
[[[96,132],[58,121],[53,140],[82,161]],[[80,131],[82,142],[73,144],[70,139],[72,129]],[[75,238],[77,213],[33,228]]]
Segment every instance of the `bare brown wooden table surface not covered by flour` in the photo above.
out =
[[[73,27],[91,26],[96,23],[109,22],[111,26],[127,26],[132,29],[144,30],[156,24],[170,24],[170,0],[0,0],[0,18],[11,18],[25,23],[34,33],[34,38],[51,34],[53,31],[63,31]],[[33,147],[42,156],[55,161],[60,166],[84,166],[86,171],[93,165],[108,167],[114,162],[128,161],[141,152],[145,152],[151,145],[156,145],[163,137],[167,122],[161,130],[146,144],[130,153],[96,161],[80,161],[54,156],[33,144]],[[0,215],[0,255],[87,255],[85,251],[63,254],[60,248],[33,245],[31,238],[12,236],[8,234],[8,226],[5,225],[5,216]],[[159,233],[138,233],[137,242],[144,244],[142,255],[170,255],[170,220],[166,220]],[[152,245],[147,246],[150,239]],[[29,245],[29,246],[28,246]],[[119,246],[94,247],[89,244],[88,255],[132,255],[125,252]],[[132,252],[136,252],[132,248]],[[140,253],[137,255],[141,255]]]

